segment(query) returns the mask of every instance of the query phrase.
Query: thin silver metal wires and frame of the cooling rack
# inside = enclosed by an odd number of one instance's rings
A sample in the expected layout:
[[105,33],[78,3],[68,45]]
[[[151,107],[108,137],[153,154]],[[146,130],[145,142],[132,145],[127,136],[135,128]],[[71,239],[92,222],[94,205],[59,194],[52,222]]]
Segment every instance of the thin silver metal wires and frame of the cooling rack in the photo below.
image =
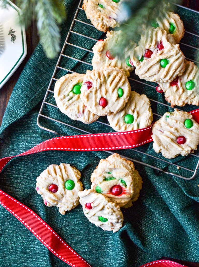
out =
[[[85,131],[85,130],[84,130],[84,124],[83,124],[83,123],[82,123],[82,128],[78,128],[78,127],[75,127],[74,125],[67,124],[67,123],[65,123],[65,122],[63,122],[63,121],[61,121],[61,120],[57,120],[57,119],[55,119],[55,118],[49,117],[49,116],[47,116],[47,115],[45,115],[45,114],[42,113],[42,111],[44,110],[45,105],[48,105],[48,106],[50,106],[50,107],[53,107],[53,108],[57,108],[57,109],[58,109],[58,107],[57,107],[55,104],[50,103],[50,101],[48,102],[48,95],[49,95],[49,94],[54,94],[54,91],[51,90],[52,87],[53,87],[53,82],[55,82],[55,81],[58,80],[57,78],[55,78],[55,74],[56,74],[56,72],[57,72],[58,70],[64,70],[64,71],[66,71],[66,73],[64,73],[63,75],[65,75],[65,74],[67,74],[67,73],[75,73],[75,71],[73,71],[73,70],[71,70],[71,69],[66,69],[66,68],[64,68],[63,66],[61,66],[61,61],[62,61],[63,58],[67,58],[68,60],[69,60],[69,59],[70,59],[70,60],[74,60],[74,61],[76,61],[76,62],[79,62],[79,64],[86,64],[87,66],[92,67],[92,65],[91,65],[90,63],[86,62],[86,61],[80,60],[80,59],[78,59],[78,58],[73,58],[73,57],[70,57],[70,56],[64,54],[64,50],[65,50],[66,46],[73,46],[73,47],[78,48],[78,49],[80,49],[80,50],[84,50],[84,51],[86,51],[86,52],[88,52],[88,53],[93,53],[91,50],[89,50],[89,49],[87,49],[87,48],[84,48],[84,47],[81,47],[81,46],[78,46],[78,45],[76,45],[76,44],[72,44],[72,43],[68,42],[68,40],[69,40],[71,34],[75,34],[75,35],[76,35],[76,38],[78,38],[78,36],[81,36],[81,37],[86,38],[87,40],[92,40],[92,41],[95,41],[95,42],[98,41],[98,40],[95,39],[95,38],[92,38],[92,37],[89,37],[89,36],[85,36],[84,34],[75,32],[75,30],[74,30],[74,24],[75,24],[75,23],[82,23],[82,25],[86,25],[86,26],[94,27],[92,24],[87,23],[87,22],[85,22],[85,21],[82,21],[82,20],[79,20],[79,19],[78,19],[78,13],[79,13],[81,10],[83,10],[83,9],[81,8],[82,2],[83,2],[83,0],[80,0],[79,5],[78,5],[78,8],[77,8],[77,10],[76,10],[76,12],[75,12],[74,19],[73,19],[73,21],[72,21],[72,23],[71,23],[70,29],[69,29],[69,31],[68,31],[66,40],[65,40],[65,42],[64,42],[62,51],[61,51],[60,56],[59,56],[59,58],[58,58],[57,64],[56,64],[56,66],[55,66],[54,72],[53,72],[53,74],[52,74],[52,78],[51,78],[50,83],[49,83],[49,85],[48,85],[46,94],[45,94],[45,96],[44,96],[44,100],[43,100],[43,102],[42,102],[42,105],[41,105],[41,108],[40,108],[40,111],[39,111],[39,114],[38,114],[38,117],[37,117],[37,124],[38,124],[38,126],[39,126],[40,128],[42,128],[42,129],[44,129],[44,130],[46,130],[46,131],[49,131],[49,132],[51,132],[51,133],[55,133],[56,135],[61,135],[61,134],[58,133],[58,132],[56,132],[56,131],[54,131],[54,130],[52,130],[52,129],[50,129],[50,128],[46,128],[46,127],[42,126],[42,125],[40,124],[40,120],[41,120],[41,119],[46,119],[46,120],[54,121],[55,123],[60,123],[60,124],[63,124],[63,125],[72,127],[72,128],[74,128],[74,129],[76,129],[76,130],[79,130],[79,131],[81,131],[81,132],[83,132],[83,133],[87,133],[87,134],[90,134],[90,133],[91,133],[91,132],[89,132],[89,131]],[[184,6],[181,6],[181,5],[177,5],[177,6],[178,6],[178,7],[181,7],[181,8],[184,8],[184,9],[187,9],[187,10],[190,10],[190,11],[193,11],[193,12],[199,14],[199,12],[197,12],[197,11],[195,11],[195,10],[188,9],[188,8],[186,8],[186,7],[184,7]],[[191,33],[191,32],[189,32],[189,31],[185,31],[185,33],[191,34],[192,36],[194,36],[194,37],[196,37],[196,38],[199,38],[199,35],[197,35],[197,34],[195,34],[195,33]],[[191,47],[191,48],[196,49],[196,50],[199,50],[198,48],[196,48],[196,47],[194,47],[194,46],[192,46],[192,45],[189,45],[189,44],[185,44],[185,43],[182,43],[182,42],[181,42],[180,44],[185,45],[185,46],[188,46],[188,47]],[[192,61],[194,61],[194,62],[196,62],[196,63],[199,63],[199,62],[197,62],[197,61],[195,61],[195,60],[193,60],[193,59],[189,59],[189,58],[187,58],[187,59],[188,59],[188,60],[192,60]],[[62,75],[62,76],[63,76],[63,75]],[[156,88],[156,86],[154,86],[154,85],[152,85],[152,84],[145,83],[144,81],[139,80],[138,77],[137,77],[137,79],[134,79],[134,78],[129,77],[129,80],[135,81],[135,82],[137,82],[137,83],[139,83],[139,84],[142,84],[142,85],[144,85],[144,86],[149,86],[149,87],[152,87],[152,88]],[[149,99],[150,99],[150,98],[149,98]],[[169,107],[169,108],[171,108],[170,105],[167,105],[167,104],[165,104],[165,103],[161,103],[161,102],[159,102],[159,101],[157,101],[157,100],[150,99],[150,101],[151,101],[151,103],[156,103],[156,104],[160,104],[160,105],[163,105],[163,106],[165,106],[165,107]],[[179,108],[178,108],[178,109],[179,109]],[[179,110],[182,110],[182,109],[179,109]],[[60,111],[57,110],[57,112],[60,112]],[[158,116],[158,117],[161,117],[161,115],[159,115],[159,114],[157,114],[157,113],[153,113],[153,115]],[[96,121],[95,123],[99,123],[99,124],[101,124],[101,126],[102,126],[102,125],[106,125],[106,126],[109,126],[109,127],[110,127],[110,125],[109,125],[108,123],[104,123],[104,122],[102,122],[102,121]],[[73,124],[74,124],[74,123],[73,123]],[[165,174],[173,175],[173,176],[176,176],[176,177],[185,179],[185,180],[191,180],[191,179],[193,179],[193,178],[195,177],[196,172],[197,172],[198,167],[199,167],[199,156],[196,155],[196,154],[190,154],[190,155],[189,155],[189,157],[196,157],[197,160],[198,160],[198,161],[196,162],[195,169],[192,170],[192,169],[186,168],[186,167],[184,167],[184,166],[178,165],[177,163],[169,162],[168,160],[159,157],[159,154],[157,154],[157,156],[153,156],[153,155],[148,154],[146,151],[144,152],[144,151],[140,151],[140,150],[138,150],[138,148],[131,148],[130,150],[132,150],[132,151],[134,151],[134,152],[136,152],[136,153],[141,153],[142,155],[145,155],[145,156],[149,156],[149,157],[152,158],[154,161],[155,161],[155,160],[158,160],[158,161],[160,161],[161,163],[166,163],[166,164],[168,164],[168,166],[175,166],[176,169],[179,169],[179,168],[180,168],[181,170],[184,170],[184,171],[186,172],[186,176],[182,176],[182,175],[176,174],[176,173],[174,173],[174,171],[173,171],[173,172],[166,171],[166,170],[164,170],[164,169],[161,169],[161,168],[158,168],[158,167],[156,167],[156,166],[153,166],[153,165],[150,165],[150,164],[141,162],[141,161],[139,161],[139,160],[136,160],[136,159],[132,159],[132,158],[126,157],[126,156],[124,156],[124,155],[121,155],[121,156],[124,157],[124,158],[126,158],[126,159],[129,159],[129,160],[131,160],[131,161],[133,161],[133,162],[135,162],[135,163],[142,164],[142,165],[147,166],[147,167],[150,167],[150,168],[152,168],[152,169],[154,169],[154,170],[163,172],[163,173],[165,173]],[[109,153],[109,154],[113,154],[113,153],[114,153],[114,152],[112,152],[112,151],[105,151],[105,152],[107,152],[107,153]],[[188,157],[188,156],[187,156],[187,157]],[[187,177],[187,176],[188,176],[188,177]]]

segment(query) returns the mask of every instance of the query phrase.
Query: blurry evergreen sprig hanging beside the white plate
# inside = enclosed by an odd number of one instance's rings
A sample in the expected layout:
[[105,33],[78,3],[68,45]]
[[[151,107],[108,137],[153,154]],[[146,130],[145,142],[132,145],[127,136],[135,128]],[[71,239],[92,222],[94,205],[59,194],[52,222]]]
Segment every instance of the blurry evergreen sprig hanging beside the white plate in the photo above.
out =
[[[7,0],[2,0],[5,6]],[[66,18],[62,0],[16,0],[22,10],[22,23],[27,28],[33,19],[37,21],[40,42],[48,58],[54,58],[60,52],[60,24]]]

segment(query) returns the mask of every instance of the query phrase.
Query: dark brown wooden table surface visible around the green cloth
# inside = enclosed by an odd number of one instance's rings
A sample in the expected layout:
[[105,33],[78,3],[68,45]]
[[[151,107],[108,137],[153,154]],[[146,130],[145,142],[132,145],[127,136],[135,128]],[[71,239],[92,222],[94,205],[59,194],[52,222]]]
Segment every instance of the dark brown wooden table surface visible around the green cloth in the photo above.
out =
[[[183,5],[199,11],[199,0],[184,0]],[[26,30],[26,41],[27,41],[27,56],[25,57],[19,68],[16,70],[16,72],[10,77],[7,83],[0,89],[0,124],[2,123],[3,115],[6,110],[13,88],[23,70],[23,67],[25,66],[26,62],[33,53],[36,45],[38,44],[39,38],[37,35],[35,22],[32,22],[31,26]],[[162,257],[161,259],[173,260],[189,267],[199,267],[199,262],[186,262],[165,257]]]

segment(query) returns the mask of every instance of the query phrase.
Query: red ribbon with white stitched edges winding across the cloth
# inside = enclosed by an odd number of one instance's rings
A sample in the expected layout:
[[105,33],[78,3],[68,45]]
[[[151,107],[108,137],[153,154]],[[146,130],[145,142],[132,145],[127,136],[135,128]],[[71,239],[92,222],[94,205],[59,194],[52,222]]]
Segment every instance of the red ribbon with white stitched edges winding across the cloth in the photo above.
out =
[[[199,123],[199,109],[190,111]],[[89,135],[62,136],[46,140],[19,155],[0,159],[0,172],[14,157],[34,154],[40,151],[99,151],[116,150],[141,146],[152,141],[152,125],[139,130],[121,133],[96,133]],[[23,223],[52,253],[74,267],[90,266],[34,211],[0,190],[0,203]],[[161,261],[163,262],[163,261]],[[167,261],[165,261],[167,262]],[[153,262],[152,264],[158,264]],[[172,262],[169,262],[169,264]],[[152,265],[151,263],[149,265]],[[173,264],[173,263],[172,263]],[[174,263],[176,264],[176,263]],[[148,265],[143,265],[145,267]],[[161,265],[162,266],[162,265]],[[165,267],[171,265],[165,265]],[[91,267],[91,266],[90,266]],[[157,266],[158,267],[158,266]],[[163,266],[164,267],[164,266]],[[172,267],[172,266],[171,266]]]

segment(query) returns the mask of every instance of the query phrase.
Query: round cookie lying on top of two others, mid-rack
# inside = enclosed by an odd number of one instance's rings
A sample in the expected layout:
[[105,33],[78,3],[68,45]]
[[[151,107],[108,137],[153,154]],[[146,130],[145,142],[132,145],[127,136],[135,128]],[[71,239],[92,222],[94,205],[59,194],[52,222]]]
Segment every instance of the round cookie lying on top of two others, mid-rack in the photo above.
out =
[[[120,88],[121,94],[118,93]],[[124,71],[106,67],[86,74],[80,98],[91,112],[105,116],[120,111],[127,103],[130,93],[131,87]]]

